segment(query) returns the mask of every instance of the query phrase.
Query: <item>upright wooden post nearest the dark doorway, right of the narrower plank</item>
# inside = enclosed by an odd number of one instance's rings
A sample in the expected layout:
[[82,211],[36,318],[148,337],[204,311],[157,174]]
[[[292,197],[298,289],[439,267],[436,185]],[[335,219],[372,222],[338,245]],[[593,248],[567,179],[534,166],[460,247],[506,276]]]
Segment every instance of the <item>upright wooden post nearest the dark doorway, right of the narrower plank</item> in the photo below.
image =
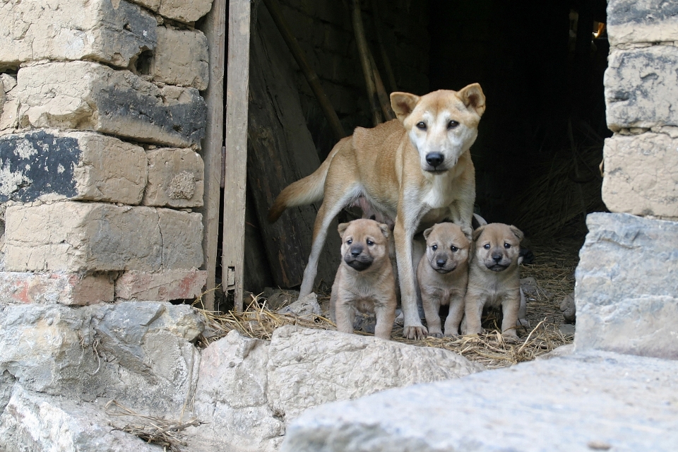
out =
[[247,176],[250,0],[229,0],[222,285],[242,311]]

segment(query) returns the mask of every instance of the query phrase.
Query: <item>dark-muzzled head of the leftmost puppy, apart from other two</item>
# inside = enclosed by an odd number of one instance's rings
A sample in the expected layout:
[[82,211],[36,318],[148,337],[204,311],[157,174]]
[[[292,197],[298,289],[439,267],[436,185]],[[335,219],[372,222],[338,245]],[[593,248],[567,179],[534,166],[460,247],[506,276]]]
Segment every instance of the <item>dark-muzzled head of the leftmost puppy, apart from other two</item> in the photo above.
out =
[[[341,256],[347,266],[366,270],[388,261],[388,225],[374,220],[353,220],[339,225]],[[390,265],[390,261],[389,261]]]

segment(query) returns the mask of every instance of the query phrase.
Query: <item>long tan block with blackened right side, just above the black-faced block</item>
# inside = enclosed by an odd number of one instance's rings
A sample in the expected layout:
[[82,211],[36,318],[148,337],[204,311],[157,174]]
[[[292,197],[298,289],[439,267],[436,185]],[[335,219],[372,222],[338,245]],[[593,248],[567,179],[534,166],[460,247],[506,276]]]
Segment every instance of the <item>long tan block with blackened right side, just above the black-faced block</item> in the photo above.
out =
[[195,88],[158,88],[89,61],[28,66],[17,82],[23,127],[90,130],[179,147],[199,147],[205,132],[205,101]]

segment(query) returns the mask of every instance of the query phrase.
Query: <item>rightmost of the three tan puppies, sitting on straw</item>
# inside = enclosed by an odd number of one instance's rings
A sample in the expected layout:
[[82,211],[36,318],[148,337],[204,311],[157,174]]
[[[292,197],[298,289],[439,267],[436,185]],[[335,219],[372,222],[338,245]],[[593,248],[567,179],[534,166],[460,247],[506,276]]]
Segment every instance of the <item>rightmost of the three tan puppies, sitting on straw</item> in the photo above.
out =
[[465,297],[466,331],[482,331],[484,307],[501,307],[501,334],[517,339],[516,321],[521,307],[521,275],[518,257],[523,232],[515,226],[490,223],[473,232],[473,253]]

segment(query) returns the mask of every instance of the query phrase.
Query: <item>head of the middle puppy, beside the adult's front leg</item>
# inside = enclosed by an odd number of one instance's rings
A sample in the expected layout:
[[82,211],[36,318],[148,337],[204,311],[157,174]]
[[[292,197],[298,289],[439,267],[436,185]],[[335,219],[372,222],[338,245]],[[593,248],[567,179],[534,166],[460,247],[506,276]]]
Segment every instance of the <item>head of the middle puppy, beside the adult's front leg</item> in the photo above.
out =
[[424,231],[426,258],[438,273],[450,273],[468,261],[468,239],[459,225],[439,223]]

